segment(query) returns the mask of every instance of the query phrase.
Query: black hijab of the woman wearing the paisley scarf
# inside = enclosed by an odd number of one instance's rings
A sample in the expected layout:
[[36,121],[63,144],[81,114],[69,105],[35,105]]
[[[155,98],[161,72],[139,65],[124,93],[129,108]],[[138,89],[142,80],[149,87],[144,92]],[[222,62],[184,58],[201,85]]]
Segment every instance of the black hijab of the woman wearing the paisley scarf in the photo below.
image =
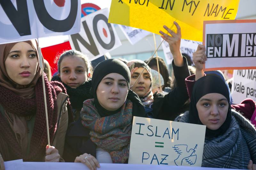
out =
[[[118,59],[108,59],[105,61],[100,62],[94,69],[93,75],[92,75],[92,87],[91,87],[91,94],[94,97],[94,104],[95,107],[97,108],[99,114],[101,117],[106,117],[109,115],[114,115],[118,113],[122,106],[118,108],[115,111],[108,111],[104,107],[102,107],[98,101],[97,97],[97,88],[98,85],[100,84],[100,81],[102,78],[104,78],[106,75],[110,73],[118,73],[122,75],[125,80],[127,81],[128,88],[130,86],[130,81],[131,81],[131,72],[128,68],[128,66],[122,62],[121,60]],[[132,101],[133,107],[132,107],[132,115],[133,116],[140,116],[140,117],[146,117],[145,114],[145,109],[140,101],[139,96],[134,93],[132,90],[129,89],[129,92],[127,94],[127,99]]]

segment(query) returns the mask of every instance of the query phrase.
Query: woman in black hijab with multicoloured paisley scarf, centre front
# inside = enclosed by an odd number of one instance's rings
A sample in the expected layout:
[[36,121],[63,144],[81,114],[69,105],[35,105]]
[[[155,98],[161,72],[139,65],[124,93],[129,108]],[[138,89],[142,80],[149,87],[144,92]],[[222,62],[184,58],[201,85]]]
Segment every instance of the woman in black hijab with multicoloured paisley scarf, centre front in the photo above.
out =
[[75,162],[92,169],[99,162],[127,162],[132,116],[146,117],[138,95],[129,89],[130,77],[128,66],[117,59],[96,66],[91,88],[94,99],[84,101],[81,120],[67,131],[63,156],[66,161],[76,158]]

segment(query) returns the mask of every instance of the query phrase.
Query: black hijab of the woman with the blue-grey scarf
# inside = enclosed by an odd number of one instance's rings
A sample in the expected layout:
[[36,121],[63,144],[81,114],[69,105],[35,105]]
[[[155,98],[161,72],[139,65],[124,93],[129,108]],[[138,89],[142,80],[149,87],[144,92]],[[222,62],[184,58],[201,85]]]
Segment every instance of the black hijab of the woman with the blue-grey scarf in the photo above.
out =
[[200,124],[203,123],[200,121],[196,103],[206,94],[209,93],[219,93],[226,97],[228,100],[228,114],[225,122],[217,130],[211,130],[206,128],[205,137],[212,138],[222,135],[229,128],[231,122],[231,105],[228,88],[225,82],[217,76],[207,75],[198,79],[193,87],[193,92],[190,100],[189,106],[189,121],[190,123]]

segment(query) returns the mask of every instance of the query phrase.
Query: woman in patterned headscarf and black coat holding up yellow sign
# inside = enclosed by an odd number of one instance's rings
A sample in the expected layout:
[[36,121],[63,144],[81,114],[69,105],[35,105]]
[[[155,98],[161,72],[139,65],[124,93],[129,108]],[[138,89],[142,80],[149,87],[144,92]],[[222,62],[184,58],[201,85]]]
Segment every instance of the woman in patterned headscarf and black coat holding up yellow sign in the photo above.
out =
[[[152,74],[150,68],[141,60],[132,60],[127,63],[131,70],[131,89],[138,94],[144,106],[153,109],[153,117],[156,119],[174,120],[180,114],[174,113],[177,113],[177,110],[179,110],[186,100],[188,100],[188,92],[184,80],[190,73],[187,60],[185,57],[182,57],[180,53],[180,26],[176,22],[174,22],[174,24],[177,27],[177,33],[174,33],[167,26],[164,26],[164,29],[166,29],[172,36],[167,35],[162,31],[160,31],[160,33],[163,35],[162,38],[169,43],[170,51],[173,55],[172,67],[177,82],[177,87],[175,89],[165,96],[163,94],[153,96],[153,92],[151,91]],[[143,73],[139,77],[142,71]],[[135,84],[137,79],[138,81]]]

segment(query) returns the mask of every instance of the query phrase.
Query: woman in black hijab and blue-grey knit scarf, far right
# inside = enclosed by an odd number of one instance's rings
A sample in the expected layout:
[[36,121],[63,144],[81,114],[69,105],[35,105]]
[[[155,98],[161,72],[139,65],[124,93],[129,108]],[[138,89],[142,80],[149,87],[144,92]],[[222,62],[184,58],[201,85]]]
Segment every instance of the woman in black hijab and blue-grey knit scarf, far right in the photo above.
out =
[[231,110],[228,87],[220,78],[198,79],[189,112],[175,121],[206,125],[202,167],[252,169],[256,162],[256,130]]

